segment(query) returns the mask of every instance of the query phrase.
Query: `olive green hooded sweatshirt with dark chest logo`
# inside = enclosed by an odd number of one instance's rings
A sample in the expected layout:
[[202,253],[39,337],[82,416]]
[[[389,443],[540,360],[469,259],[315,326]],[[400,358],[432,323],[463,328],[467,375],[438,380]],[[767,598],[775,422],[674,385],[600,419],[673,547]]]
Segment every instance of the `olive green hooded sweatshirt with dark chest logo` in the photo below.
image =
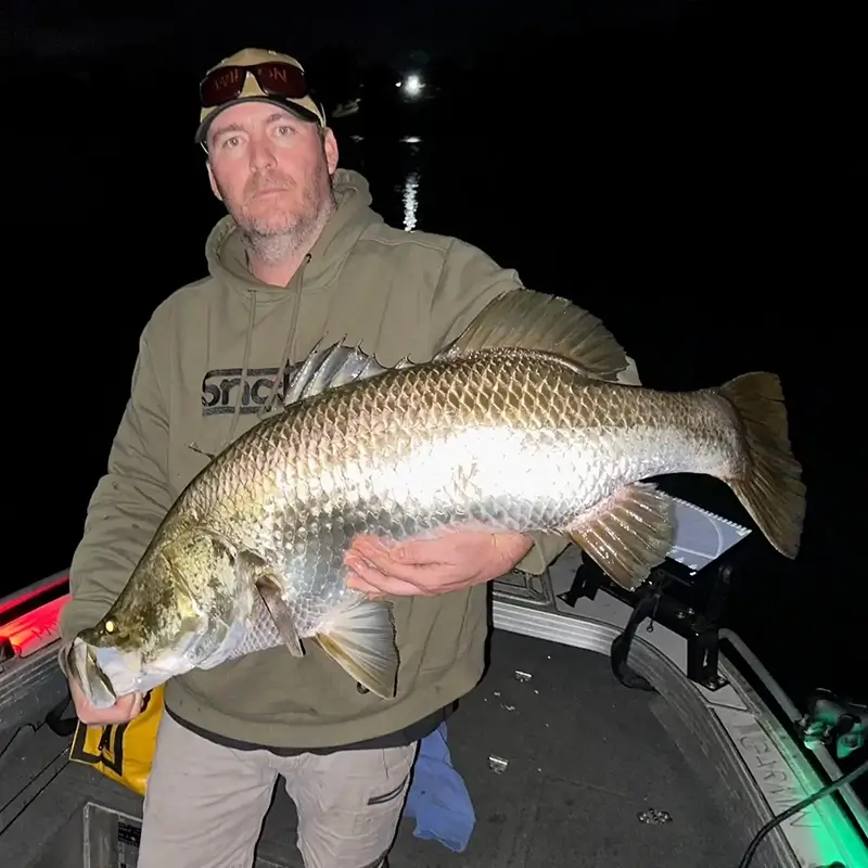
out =
[[[385,225],[357,173],[339,170],[334,192],[337,209],[288,286],[250,273],[239,229],[226,217],[207,241],[209,277],[175,292],[146,323],[107,472],[73,558],[64,643],[107,612],[206,456],[282,411],[290,367],[317,342],[359,343],[385,366],[407,355],[426,361],[492,299],[522,289],[515,271],[469,244]],[[565,546],[540,535],[519,569],[542,573]],[[399,732],[421,738],[419,723],[431,720],[433,730],[437,714],[482,676],[486,587],[391,602],[400,654],[395,699],[360,692],[308,643],[301,659],[280,647],[173,678],[166,710],[216,740],[281,751],[358,746]]]

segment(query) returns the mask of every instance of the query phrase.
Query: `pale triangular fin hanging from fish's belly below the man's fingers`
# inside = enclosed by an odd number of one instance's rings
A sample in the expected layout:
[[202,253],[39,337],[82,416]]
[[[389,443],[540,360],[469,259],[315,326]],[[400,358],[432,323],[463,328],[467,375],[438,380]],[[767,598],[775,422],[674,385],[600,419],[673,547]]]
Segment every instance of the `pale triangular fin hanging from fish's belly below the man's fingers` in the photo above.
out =
[[358,684],[382,699],[397,693],[398,649],[387,602],[367,600],[342,612],[315,637]]

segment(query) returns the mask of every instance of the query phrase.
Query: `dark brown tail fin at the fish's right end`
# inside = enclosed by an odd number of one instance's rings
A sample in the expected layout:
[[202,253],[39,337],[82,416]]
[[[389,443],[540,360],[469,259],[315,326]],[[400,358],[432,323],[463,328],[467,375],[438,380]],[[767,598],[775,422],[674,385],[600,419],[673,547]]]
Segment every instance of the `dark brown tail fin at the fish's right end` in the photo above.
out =
[[784,557],[795,558],[805,520],[805,485],[790,446],[780,380],[763,371],[745,373],[719,393],[735,408],[746,447],[742,471],[725,482],[768,541]]

